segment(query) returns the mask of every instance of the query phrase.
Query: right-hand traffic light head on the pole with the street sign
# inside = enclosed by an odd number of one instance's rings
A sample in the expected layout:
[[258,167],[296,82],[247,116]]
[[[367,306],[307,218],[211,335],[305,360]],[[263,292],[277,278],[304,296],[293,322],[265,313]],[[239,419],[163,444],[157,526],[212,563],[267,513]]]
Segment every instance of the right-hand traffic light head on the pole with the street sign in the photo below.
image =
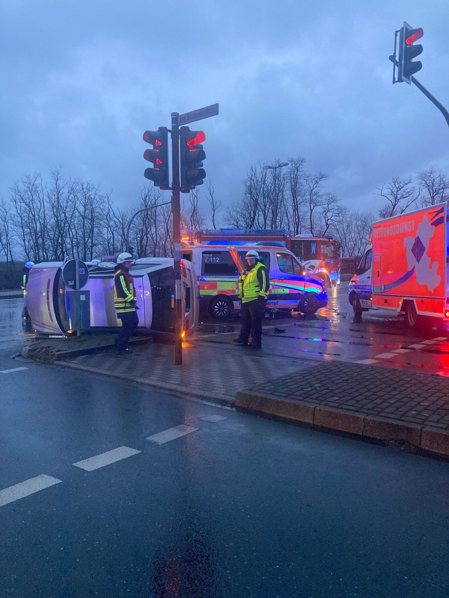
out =
[[203,131],[191,131],[181,127],[180,133],[180,179],[181,193],[189,193],[196,185],[202,185],[206,178],[203,160],[206,157],[202,142],[206,136]]

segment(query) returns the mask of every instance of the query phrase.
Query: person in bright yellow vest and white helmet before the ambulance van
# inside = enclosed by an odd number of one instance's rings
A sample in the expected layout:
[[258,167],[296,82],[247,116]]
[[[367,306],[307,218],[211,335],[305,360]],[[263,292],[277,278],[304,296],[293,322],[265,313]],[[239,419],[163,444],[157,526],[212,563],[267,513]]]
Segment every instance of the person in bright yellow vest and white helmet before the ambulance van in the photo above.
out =
[[[247,268],[239,279],[238,297],[242,300],[241,328],[234,343],[260,349],[262,347],[262,319],[265,314],[266,300],[270,281],[266,267],[260,262],[259,254],[250,249],[245,255]],[[251,334],[251,342],[248,339]]]

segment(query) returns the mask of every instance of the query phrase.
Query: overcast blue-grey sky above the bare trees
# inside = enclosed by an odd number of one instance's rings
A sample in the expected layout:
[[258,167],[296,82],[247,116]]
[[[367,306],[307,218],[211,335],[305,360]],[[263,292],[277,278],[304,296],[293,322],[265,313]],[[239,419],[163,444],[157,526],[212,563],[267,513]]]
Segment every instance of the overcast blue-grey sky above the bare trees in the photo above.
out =
[[393,86],[388,59],[404,21],[422,27],[416,78],[449,109],[448,17],[447,0],[1,0],[0,199],[60,165],[125,209],[147,182],[144,130],[219,103],[190,127],[223,206],[251,164],[304,157],[373,212],[393,176],[449,175],[444,117]]

